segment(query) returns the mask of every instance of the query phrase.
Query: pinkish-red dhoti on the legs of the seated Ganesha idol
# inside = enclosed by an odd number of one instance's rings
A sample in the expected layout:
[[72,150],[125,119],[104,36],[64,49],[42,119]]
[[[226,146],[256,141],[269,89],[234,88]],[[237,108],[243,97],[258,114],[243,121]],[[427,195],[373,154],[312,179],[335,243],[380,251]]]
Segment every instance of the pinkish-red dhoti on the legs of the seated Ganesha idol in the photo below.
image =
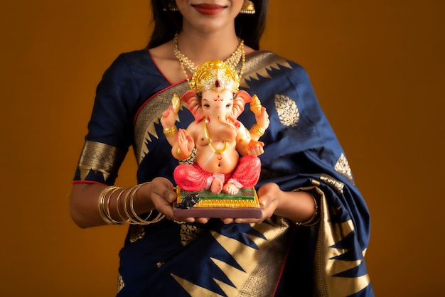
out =
[[257,156],[243,156],[232,173],[209,173],[194,163],[178,165],[173,177],[178,187],[186,191],[208,190],[215,178],[223,180],[224,184],[232,183],[241,189],[253,188],[258,182],[260,171],[261,162]]

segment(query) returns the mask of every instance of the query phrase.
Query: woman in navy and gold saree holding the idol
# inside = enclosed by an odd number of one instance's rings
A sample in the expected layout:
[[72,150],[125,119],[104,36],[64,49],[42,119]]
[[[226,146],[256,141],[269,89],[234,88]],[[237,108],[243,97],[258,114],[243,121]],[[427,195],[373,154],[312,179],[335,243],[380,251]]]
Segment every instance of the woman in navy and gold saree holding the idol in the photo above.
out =
[[[259,50],[267,0],[151,4],[148,47],[120,55],[97,87],[71,194],[80,227],[130,223],[118,296],[373,296],[368,208],[304,69]],[[160,121],[208,60],[235,67],[269,114],[257,130],[260,219],[173,216],[178,160],[163,134],[176,131]],[[178,115],[178,129],[193,121],[185,107]],[[240,121],[256,124],[246,112]],[[118,188],[129,146],[139,185]]]

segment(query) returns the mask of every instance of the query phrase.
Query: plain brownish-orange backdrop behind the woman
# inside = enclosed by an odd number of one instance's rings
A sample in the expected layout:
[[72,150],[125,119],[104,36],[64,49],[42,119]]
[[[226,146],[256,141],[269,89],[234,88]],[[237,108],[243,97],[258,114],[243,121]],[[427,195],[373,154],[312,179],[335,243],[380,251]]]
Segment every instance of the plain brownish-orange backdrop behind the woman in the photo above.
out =
[[[368,201],[375,293],[444,291],[445,2],[271,2],[262,47],[308,70]],[[125,227],[77,228],[68,193],[97,82],[144,47],[148,1],[2,0],[0,33],[0,292],[112,296]]]

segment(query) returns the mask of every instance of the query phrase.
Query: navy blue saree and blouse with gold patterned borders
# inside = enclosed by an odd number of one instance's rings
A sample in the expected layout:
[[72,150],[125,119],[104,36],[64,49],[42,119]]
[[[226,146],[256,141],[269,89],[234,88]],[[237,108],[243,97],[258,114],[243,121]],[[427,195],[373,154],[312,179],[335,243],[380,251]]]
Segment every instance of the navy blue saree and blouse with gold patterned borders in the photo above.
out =
[[[271,121],[257,187],[277,183],[318,202],[319,220],[302,226],[273,216],[262,224],[130,225],[119,253],[117,296],[374,296],[365,266],[370,217],[348,160],[318,104],[306,71],[267,52],[246,56],[241,89],[256,94]],[[171,85],[146,50],[122,54],[104,73],[75,183],[113,185],[130,146],[139,183],[173,183],[178,161],[162,134]],[[239,117],[245,126],[254,114]],[[183,104],[178,128],[193,121]]]

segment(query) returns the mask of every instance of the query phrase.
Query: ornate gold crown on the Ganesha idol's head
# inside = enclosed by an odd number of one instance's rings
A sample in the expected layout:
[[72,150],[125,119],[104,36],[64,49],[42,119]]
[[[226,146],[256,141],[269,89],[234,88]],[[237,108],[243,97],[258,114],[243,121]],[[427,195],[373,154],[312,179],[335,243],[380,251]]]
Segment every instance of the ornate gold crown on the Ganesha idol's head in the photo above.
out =
[[191,79],[191,88],[196,92],[205,90],[230,90],[238,92],[240,77],[235,68],[220,60],[211,60],[200,65]]

